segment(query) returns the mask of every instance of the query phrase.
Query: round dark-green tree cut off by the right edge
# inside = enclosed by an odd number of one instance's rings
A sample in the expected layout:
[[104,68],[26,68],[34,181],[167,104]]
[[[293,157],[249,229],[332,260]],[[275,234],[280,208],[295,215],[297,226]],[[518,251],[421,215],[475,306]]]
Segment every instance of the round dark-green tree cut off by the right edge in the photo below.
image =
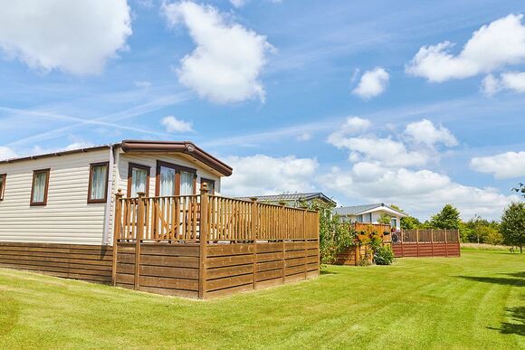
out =
[[523,243],[525,243],[525,203],[511,203],[503,216],[501,216],[501,234],[503,241],[507,244],[520,247],[523,253]]

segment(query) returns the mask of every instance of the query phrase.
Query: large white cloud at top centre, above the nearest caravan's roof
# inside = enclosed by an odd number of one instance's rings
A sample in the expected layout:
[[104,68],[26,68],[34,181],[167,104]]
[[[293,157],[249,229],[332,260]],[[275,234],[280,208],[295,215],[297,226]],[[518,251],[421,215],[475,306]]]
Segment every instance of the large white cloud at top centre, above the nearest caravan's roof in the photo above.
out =
[[196,49],[181,61],[180,82],[217,103],[264,100],[259,80],[272,45],[266,37],[230,23],[215,7],[183,1],[163,6],[170,26],[185,24]]

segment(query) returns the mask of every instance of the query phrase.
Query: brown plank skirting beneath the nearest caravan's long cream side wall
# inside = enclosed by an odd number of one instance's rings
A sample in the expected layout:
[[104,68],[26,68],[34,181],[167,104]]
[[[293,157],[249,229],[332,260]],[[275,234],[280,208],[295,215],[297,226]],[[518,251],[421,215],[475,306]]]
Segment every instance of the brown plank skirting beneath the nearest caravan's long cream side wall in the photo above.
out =
[[0,242],[0,267],[66,279],[111,282],[110,246]]

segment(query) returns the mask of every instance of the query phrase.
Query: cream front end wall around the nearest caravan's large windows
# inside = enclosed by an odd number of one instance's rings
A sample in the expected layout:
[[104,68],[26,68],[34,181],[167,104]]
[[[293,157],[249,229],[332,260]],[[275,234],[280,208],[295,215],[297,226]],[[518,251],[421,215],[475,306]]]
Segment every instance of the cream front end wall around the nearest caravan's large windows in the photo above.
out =
[[211,171],[206,171],[200,164],[192,162],[190,159],[180,156],[179,154],[167,155],[167,154],[119,154],[118,163],[118,176],[119,183],[115,184],[115,189],[121,189],[122,194],[126,196],[128,194],[128,170],[129,163],[138,164],[140,166],[150,166],[149,174],[149,195],[155,195],[156,187],[156,175],[157,175],[157,160],[176,164],[177,166],[186,166],[196,169],[197,172],[197,184],[196,194],[199,194],[201,178],[215,180],[215,194],[220,193],[221,179],[218,175],[212,174]]

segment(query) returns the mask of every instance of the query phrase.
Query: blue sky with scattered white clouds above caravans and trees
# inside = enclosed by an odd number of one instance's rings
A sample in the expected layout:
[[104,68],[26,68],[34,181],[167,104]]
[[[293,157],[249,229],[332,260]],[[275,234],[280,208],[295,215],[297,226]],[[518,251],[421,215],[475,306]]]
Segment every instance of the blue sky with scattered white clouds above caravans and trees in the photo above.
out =
[[0,0],[0,158],[190,140],[222,194],[498,219],[525,182],[522,0]]

